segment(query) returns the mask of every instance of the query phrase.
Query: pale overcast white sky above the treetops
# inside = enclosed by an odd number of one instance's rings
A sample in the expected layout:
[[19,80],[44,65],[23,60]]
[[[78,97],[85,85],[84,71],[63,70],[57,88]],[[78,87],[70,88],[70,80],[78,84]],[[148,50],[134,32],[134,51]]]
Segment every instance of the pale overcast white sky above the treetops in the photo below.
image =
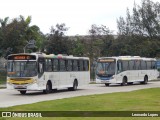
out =
[[116,34],[117,19],[126,17],[126,9],[131,12],[134,2],[141,4],[141,0],[0,0],[0,18],[31,16],[31,25],[44,34],[61,23],[69,28],[66,35],[86,35],[92,24],[105,25]]

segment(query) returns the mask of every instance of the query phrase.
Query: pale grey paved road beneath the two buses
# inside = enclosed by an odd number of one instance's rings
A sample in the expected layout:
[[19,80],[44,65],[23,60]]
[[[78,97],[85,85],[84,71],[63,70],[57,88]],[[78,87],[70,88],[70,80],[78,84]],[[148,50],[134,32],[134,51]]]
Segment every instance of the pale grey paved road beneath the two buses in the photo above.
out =
[[29,104],[46,100],[56,100],[70,98],[75,96],[125,92],[145,88],[160,87],[160,81],[149,82],[147,85],[134,84],[129,86],[112,85],[106,87],[104,84],[89,84],[85,87],[79,87],[77,91],[68,91],[67,89],[58,90],[50,94],[43,94],[41,91],[27,92],[21,95],[18,91],[0,89],[0,107],[9,107],[21,104]]

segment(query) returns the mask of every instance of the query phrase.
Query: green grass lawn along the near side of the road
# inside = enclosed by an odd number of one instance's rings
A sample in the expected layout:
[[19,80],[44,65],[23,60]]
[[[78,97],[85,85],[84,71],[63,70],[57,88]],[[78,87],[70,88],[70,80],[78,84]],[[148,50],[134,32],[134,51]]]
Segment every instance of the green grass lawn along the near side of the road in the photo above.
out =
[[[0,111],[160,111],[160,88],[150,88],[132,92],[89,95],[89,96],[66,98],[60,100],[38,102],[27,105],[0,108]],[[100,117],[100,118],[102,120],[109,119],[109,117],[107,118]],[[45,119],[51,119],[51,118],[45,118]],[[70,118],[70,117],[58,118],[58,120],[70,120],[70,119],[75,119],[75,118]],[[76,117],[76,120],[79,119],[81,120],[84,118]],[[95,117],[95,118],[85,118],[85,119],[98,120],[99,118]],[[111,117],[110,119],[137,120],[137,117],[130,117],[130,118]],[[138,119],[149,120],[149,117],[148,118],[139,117]],[[156,120],[156,118],[153,119]]]

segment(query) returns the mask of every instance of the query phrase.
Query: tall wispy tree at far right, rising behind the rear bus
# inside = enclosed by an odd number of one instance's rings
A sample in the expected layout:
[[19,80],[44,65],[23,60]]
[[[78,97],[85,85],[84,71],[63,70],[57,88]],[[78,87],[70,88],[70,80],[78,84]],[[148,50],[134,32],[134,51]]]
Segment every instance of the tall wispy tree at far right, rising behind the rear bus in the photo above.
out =
[[[126,19],[117,20],[119,37],[112,45],[118,55],[155,57],[160,45],[160,3],[143,0],[134,3],[133,13],[127,9]],[[117,46],[115,46],[117,45]],[[115,51],[113,51],[115,52]]]

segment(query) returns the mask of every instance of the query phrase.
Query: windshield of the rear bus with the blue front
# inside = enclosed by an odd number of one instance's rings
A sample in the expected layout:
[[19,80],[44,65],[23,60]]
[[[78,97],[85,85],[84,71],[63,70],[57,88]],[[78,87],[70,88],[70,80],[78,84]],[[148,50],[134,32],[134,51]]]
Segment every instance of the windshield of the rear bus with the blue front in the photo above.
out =
[[98,62],[96,74],[99,76],[112,76],[115,74],[115,61]]

